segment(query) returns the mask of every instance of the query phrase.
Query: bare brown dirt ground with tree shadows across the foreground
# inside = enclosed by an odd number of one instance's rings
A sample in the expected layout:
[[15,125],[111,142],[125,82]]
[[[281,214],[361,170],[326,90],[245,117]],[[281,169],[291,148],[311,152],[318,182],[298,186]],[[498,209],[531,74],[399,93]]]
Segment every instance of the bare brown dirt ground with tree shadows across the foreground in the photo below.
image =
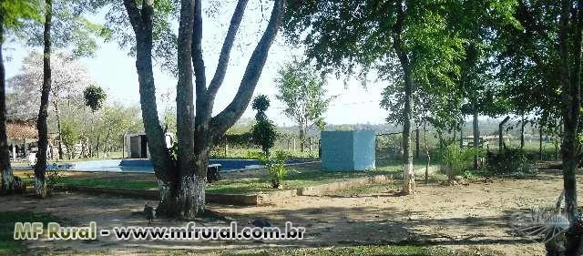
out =
[[[578,177],[583,185],[583,175]],[[399,196],[399,184],[339,191],[322,197],[295,197],[261,207],[210,204],[240,226],[263,217],[275,226],[286,221],[306,228],[304,241],[28,241],[32,252],[70,255],[148,254],[159,251],[230,251],[277,246],[319,247],[355,244],[437,244],[454,249],[479,248],[502,255],[544,255],[544,246],[518,237],[508,225],[520,210],[554,204],[562,188],[558,170],[547,170],[534,179],[476,180],[469,186],[444,186],[418,181],[417,192]],[[581,196],[579,196],[581,199]],[[154,201],[149,201],[155,204]],[[57,193],[47,200],[11,196],[0,198],[0,211],[49,212],[72,220],[73,225],[97,221],[99,229],[114,226],[148,226],[139,212],[144,200],[107,195]],[[197,220],[198,226],[228,226],[228,220]],[[178,220],[155,220],[152,226],[181,226]],[[158,252],[157,252],[158,251]]]

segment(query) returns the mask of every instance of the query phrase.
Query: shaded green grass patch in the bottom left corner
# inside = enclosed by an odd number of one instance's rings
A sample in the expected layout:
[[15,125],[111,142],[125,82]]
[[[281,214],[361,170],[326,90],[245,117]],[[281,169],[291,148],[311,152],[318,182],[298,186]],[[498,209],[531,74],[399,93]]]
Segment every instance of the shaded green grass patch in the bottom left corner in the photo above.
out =
[[20,255],[24,252],[22,241],[14,240],[15,222],[59,222],[67,220],[46,213],[31,211],[0,211],[0,255]]

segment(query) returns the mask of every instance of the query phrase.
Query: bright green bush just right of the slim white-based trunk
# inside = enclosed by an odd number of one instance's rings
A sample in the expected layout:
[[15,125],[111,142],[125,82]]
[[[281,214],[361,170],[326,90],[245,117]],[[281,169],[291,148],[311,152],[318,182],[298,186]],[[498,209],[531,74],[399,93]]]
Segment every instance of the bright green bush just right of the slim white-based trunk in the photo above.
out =
[[[478,152],[478,156],[480,154],[481,152]],[[447,178],[469,175],[466,170],[471,169],[474,155],[476,155],[474,148],[460,148],[456,143],[445,147],[441,152],[440,162],[448,168]]]

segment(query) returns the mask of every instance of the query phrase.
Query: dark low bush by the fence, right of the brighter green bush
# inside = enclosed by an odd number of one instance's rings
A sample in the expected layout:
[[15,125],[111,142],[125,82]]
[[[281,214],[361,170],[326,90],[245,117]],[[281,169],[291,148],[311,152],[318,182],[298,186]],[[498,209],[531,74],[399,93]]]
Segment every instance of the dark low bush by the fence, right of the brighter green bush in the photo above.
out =
[[488,172],[494,175],[524,176],[532,173],[527,152],[520,148],[504,148],[487,154]]

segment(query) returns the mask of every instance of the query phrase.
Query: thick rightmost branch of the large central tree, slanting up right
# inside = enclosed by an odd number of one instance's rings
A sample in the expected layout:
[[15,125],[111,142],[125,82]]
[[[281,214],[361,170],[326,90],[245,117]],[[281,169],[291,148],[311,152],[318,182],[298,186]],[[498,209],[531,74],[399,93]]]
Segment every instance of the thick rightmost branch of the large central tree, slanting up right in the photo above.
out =
[[219,115],[212,118],[210,127],[212,129],[212,138],[220,137],[228,128],[230,128],[243,114],[246,107],[249,105],[253,91],[257,86],[261,71],[265,66],[265,61],[269,54],[273,39],[277,35],[277,31],[281,24],[281,16],[285,9],[285,0],[275,0],[273,3],[273,10],[271,11],[270,22],[261,36],[261,40],[253,50],[253,54],[245,69],[245,74],[240,81],[239,90],[230,102],[227,108],[223,109]]

